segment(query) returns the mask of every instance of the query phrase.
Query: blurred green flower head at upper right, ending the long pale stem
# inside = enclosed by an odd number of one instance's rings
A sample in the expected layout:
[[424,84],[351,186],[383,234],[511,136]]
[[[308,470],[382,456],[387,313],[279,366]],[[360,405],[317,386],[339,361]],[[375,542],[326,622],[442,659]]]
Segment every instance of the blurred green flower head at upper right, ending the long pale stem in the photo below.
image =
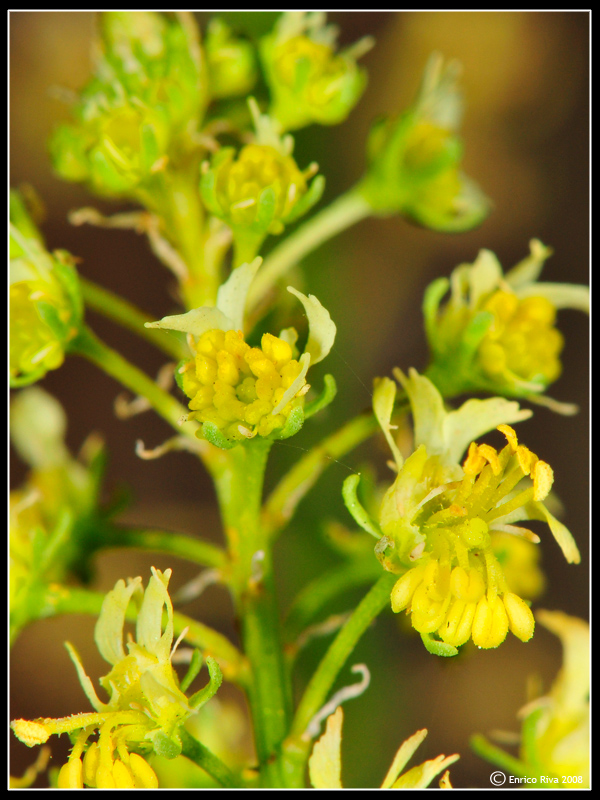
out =
[[465,231],[489,212],[489,202],[460,171],[462,112],[459,68],[433,55],[413,107],[373,127],[369,170],[361,190],[377,214],[401,213],[439,231]]

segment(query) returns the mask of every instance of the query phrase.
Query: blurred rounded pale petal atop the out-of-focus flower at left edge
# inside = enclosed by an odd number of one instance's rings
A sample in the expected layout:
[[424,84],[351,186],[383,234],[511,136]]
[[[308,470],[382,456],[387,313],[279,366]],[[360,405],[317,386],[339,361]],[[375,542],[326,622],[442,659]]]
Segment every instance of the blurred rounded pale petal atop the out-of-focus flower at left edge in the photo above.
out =
[[69,460],[64,441],[66,430],[63,407],[38,386],[19,392],[11,403],[11,441],[23,461],[34,469]]

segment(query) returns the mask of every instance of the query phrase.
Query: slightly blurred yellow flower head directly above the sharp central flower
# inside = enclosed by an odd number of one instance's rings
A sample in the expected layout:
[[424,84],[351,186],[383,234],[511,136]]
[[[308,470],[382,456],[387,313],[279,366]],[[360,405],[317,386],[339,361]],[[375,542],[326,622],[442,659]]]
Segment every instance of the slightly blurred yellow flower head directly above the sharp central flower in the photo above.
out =
[[224,147],[203,167],[200,184],[208,210],[232,229],[237,262],[250,261],[268,234],[305,214],[321,197],[324,179],[311,164],[301,171],[292,157],[291,136],[280,138],[277,124],[250,102],[256,140],[237,154]]

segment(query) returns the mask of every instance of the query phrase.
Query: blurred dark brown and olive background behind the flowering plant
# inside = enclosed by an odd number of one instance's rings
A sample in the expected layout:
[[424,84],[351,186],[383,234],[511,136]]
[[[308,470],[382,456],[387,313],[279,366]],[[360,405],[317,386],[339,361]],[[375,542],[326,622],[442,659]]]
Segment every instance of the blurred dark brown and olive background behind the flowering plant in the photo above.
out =
[[[233,17],[234,15],[232,15]],[[420,301],[425,286],[473,261],[480,248],[498,255],[508,268],[528,252],[536,236],[555,249],[543,277],[548,281],[588,280],[588,62],[589,18],[585,12],[342,12],[330,18],[349,44],[373,34],[376,47],[364,58],[368,89],[349,119],[338,127],[298,132],[300,166],[318,161],[327,177],[325,201],[351,186],[364,168],[364,141],[373,118],[404,109],[413,99],[420,73],[432,50],[464,65],[466,113],[463,135],[465,171],[492,198],[494,210],[478,229],[443,235],[410,226],[400,218],[371,219],[323,246],[307,259],[305,284],[331,311],[338,326],[335,350],[323,371],[338,381],[339,395],[328,411],[289,443],[274,448],[270,483],[300,450],[370,403],[374,376],[425,365]],[[77,89],[89,74],[94,17],[89,12],[13,12],[11,21],[11,184],[31,183],[43,198],[43,226],[50,248],[61,247],[82,259],[81,272],[147,309],[156,318],[173,309],[170,277],[145,241],[131,232],[73,228],[70,209],[116,205],[96,201],[80,186],[60,182],[46,154],[53,125],[67,117],[56,87]],[[272,244],[272,242],[271,242]],[[95,315],[89,322],[109,344],[151,374],[161,356],[120,328]],[[566,336],[564,374],[552,396],[576,402],[577,417],[535,409],[521,424],[520,436],[555,470],[555,489],[566,507],[565,522],[583,554],[568,566],[549,531],[542,533],[546,595],[538,607],[561,608],[587,616],[588,599],[588,321],[561,312]],[[318,385],[318,380],[314,381]],[[220,537],[210,484],[190,455],[171,454],[141,462],[136,439],[153,447],[169,429],[150,413],[119,422],[113,401],[120,389],[87,362],[68,359],[43,381],[69,415],[74,451],[90,430],[105,437],[111,460],[109,488],[127,483],[134,502],[126,514],[136,524],[165,525],[190,534]],[[304,583],[333,564],[322,543],[319,520],[336,514],[350,524],[340,486],[350,470],[372,458],[381,479],[390,480],[384,450],[377,443],[334,464],[321,491],[308,502],[278,548],[280,594],[285,608]],[[13,459],[14,480],[24,469]],[[151,564],[175,568],[177,588],[195,570],[173,559],[137,553],[108,554],[99,560],[95,587],[106,591],[119,577],[141,574]],[[352,607],[361,593],[343,598],[331,612]],[[183,609],[236,637],[231,606],[221,589],[209,589]],[[56,619],[26,630],[12,653],[11,717],[64,716],[87,709],[75,671],[62,645],[70,639],[92,677],[103,674],[92,640],[93,620]],[[300,659],[300,688],[314,669],[326,642],[311,645]],[[381,782],[398,745],[417,728],[429,728],[420,761],[438,753],[459,752],[452,767],[458,787],[488,787],[492,767],[470,753],[468,737],[491,729],[517,730],[515,714],[525,701],[528,675],[538,673],[547,687],[560,664],[558,640],[540,628],[522,644],[513,636],[497,651],[469,650],[456,659],[430,656],[418,638],[400,630],[398,619],[383,615],[365,636],[350,663],[365,661],[372,673],[369,690],[346,706],[344,780],[347,786]],[[355,680],[344,671],[341,681]],[[233,693],[235,694],[235,693]],[[14,742],[13,742],[14,743]],[[55,742],[56,762],[66,741]],[[16,744],[13,772],[19,774],[34,753]],[[419,763],[419,762],[417,762]]]

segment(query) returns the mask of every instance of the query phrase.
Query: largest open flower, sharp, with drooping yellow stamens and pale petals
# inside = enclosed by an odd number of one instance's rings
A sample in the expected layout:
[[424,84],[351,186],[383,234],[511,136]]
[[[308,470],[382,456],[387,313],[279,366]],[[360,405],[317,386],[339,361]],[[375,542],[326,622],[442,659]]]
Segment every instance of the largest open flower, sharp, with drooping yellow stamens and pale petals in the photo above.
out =
[[[502,398],[468,400],[448,412],[427,378],[415,370],[408,378],[396,370],[396,376],[410,401],[416,450],[404,461],[393,440],[396,386],[383,378],[373,406],[398,476],[384,497],[378,525],[370,523],[371,533],[383,534],[376,553],[384,568],[403,573],[392,589],[392,610],[407,610],[425,645],[438,655],[454,655],[470,638],[478,647],[497,647],[509,630],[527,641],[533,615],[507,582],[493,533],[537,542],[535,534],[514,523],[544,519],[567,561],[580,559],[573,537],[542,502],[552,486],[552,469],[519,444],[506,424],[530,412]],[[502,450],[475,444],[474,438],[494,427],[507,439]]]

